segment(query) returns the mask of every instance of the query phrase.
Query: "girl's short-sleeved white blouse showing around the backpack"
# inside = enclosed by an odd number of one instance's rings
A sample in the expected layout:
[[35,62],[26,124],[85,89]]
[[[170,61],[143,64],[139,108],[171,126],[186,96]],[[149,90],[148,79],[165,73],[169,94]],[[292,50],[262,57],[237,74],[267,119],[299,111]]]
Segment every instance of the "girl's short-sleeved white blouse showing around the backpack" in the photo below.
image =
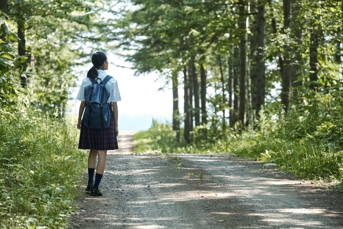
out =
[[[107,76],[106,72],[104,70],[97,70],[97,71],[99,74],[98,78],[100,78],[101,80],[104,80],[105,77]],[[83,79],[81,86],[80,86],[78,96],[76,97],[76,99],[78,99],[80,101],[86,101],[85,100],[85,87],[87,87],[88,85],[91,85],[91,84],[92,84],[92,82],[88,77]],[[109,95],[109,98],[107,100],[107,103],[121,101],[117,80],[115,80],[114,78],[111,78],[106,83],[105,86],[110,91],[110,95]]]

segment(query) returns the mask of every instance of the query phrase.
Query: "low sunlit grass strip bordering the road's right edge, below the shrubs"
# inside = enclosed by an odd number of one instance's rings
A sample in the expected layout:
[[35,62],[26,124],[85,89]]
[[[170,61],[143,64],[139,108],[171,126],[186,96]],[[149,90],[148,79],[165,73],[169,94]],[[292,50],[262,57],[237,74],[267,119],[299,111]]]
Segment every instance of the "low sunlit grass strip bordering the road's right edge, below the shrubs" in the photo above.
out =
[[[181,133],[183,130],[181,129]],[[144,134],[135,134],[135,152],[160,153],[233,153],[239,157],[249,157],[262,162],[276,163],[280,169],[288,170],[295,176],[313,180],[341,182],[343,151],[317,139],[287,139],[275,132],[261,132],[249,129],[237,134],[227,131],[225,137],[209,136],[201,139],[194,131],[193,144],[177,144],[176,133],[168,124],[153,123]],[[143,138],[149,138],[145,145]],[[329,182],[328,182],[329,183]]]

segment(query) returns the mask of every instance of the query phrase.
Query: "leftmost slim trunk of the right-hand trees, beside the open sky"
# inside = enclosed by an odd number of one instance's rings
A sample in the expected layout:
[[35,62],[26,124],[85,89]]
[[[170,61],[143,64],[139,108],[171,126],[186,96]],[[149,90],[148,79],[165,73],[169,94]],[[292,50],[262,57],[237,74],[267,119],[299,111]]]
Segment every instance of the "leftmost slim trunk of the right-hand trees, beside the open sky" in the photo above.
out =
[[180,143],[179,83],[177,75],[177,71],[173,71],[171,75],[173,81],[173,130],[176,131],[176,142]]

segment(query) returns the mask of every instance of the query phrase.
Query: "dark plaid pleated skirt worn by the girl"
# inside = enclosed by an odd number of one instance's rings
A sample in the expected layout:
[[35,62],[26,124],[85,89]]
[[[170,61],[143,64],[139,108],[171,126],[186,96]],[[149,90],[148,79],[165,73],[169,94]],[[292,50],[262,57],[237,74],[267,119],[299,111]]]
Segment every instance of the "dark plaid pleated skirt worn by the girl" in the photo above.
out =
[[114,150],[118,149],[114,113],[111,109],[110,125],[106,129],[90,129],[81,123],[79,149]]

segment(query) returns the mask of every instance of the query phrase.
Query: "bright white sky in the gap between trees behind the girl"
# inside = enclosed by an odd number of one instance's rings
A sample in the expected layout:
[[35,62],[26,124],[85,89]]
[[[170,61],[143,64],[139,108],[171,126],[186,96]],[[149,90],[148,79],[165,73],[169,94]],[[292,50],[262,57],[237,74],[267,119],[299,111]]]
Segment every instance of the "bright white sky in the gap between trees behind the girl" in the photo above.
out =
[[[159,78],[156,72],[146,75],[134,76],[134,70],[130,68],[122,68],[117,66],[130,67],[129,62],[116,57],[114,54],[106,54],[108,56],[109,67],[106,73],[118,82],[121,101],[118,104],[118,128],[120,130],[147,130],[151,127],[152,119],[158,119],[160,122],[171,123],[173,118],[173,91],[171,84],[168,84],[164,91],[158,91],[159,88],[165,85],[165,80]],[[90,61],[82,69],[88,70],[92,67]],[[76,75],[81,75],[80,73]],[[86,76],[80,76],[76,83],[80,86],[82,80]],[[75,88],[71,94],[72,100],[71,113],[78,115],[80,101],[76,100],[79,88]],[[183,90],[179,89],[179,106],[183,109]],[[182,111],[182,110],[180,110]]]

